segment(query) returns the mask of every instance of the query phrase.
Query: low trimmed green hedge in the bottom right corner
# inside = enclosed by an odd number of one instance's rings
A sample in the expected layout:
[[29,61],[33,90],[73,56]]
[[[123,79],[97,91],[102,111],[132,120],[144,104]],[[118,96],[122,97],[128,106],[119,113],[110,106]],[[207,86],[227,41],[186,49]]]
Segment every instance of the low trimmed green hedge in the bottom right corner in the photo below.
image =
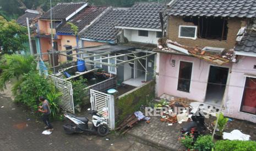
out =
[[255,141],[221,140],[215,143],[216,151],[256,151]]

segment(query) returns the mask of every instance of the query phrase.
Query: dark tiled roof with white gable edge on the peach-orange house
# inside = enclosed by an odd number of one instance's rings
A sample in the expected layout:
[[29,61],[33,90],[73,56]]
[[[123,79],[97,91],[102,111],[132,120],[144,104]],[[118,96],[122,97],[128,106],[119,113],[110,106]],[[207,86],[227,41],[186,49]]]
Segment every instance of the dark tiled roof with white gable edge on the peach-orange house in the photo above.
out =
[[[58,3],[55,7],[52,8],[52,19],[62,20],[66,19],[69,15],[73,14],[76,10],[83,7],[86,3]],[[49,9],[45,14],[41,16],[40,19],[51,19]]]

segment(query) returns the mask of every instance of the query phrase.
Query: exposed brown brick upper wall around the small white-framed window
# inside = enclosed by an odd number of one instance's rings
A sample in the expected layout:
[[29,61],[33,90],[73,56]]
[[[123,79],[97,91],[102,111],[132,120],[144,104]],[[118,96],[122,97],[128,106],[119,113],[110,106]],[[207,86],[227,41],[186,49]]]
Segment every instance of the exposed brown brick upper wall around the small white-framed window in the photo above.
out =
[[227,40],[211,40],[211,39],[203,39],[203,38],[197,38],[195,40],[193,39],[187,39],[187,38],[178,38],[179,33],[179,25],[187,25],[187,26],[195,26],[192,22],[184,22],[182,17],[173,17],[170,16],[168,18],[168,39],[171,39],[173,41],[176,41],[182,45],[187,46],[195,46],[199,45],[199,47],[218,47],[218,48],[226,48],[231,49],[234,47],[236,43],[236,36],[241,28],[241,26],[244,26],[245,22],[241,19],[237,18],[230,18],[228,19],[228,33],[227,33]]

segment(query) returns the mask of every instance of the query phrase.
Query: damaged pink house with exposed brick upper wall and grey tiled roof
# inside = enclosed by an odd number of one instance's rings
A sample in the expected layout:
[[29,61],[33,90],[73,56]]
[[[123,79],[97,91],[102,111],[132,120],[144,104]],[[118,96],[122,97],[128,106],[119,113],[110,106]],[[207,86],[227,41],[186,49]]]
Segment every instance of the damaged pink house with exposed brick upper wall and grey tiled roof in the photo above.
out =
[[165,14],[167,36],[155,50],[157,96],[224,107],[226,116],[255,123],[256,1],[172,0]]

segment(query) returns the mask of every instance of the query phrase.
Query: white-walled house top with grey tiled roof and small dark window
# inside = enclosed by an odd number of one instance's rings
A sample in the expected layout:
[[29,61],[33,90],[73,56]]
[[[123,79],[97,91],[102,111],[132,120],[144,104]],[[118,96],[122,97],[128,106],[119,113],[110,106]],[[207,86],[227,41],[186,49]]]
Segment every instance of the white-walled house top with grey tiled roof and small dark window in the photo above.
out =
[[121,16],[116,28],[123,30],[129,42],[157,44],[163,35],[159,13],[164,9],[164,3],[135,3]]

